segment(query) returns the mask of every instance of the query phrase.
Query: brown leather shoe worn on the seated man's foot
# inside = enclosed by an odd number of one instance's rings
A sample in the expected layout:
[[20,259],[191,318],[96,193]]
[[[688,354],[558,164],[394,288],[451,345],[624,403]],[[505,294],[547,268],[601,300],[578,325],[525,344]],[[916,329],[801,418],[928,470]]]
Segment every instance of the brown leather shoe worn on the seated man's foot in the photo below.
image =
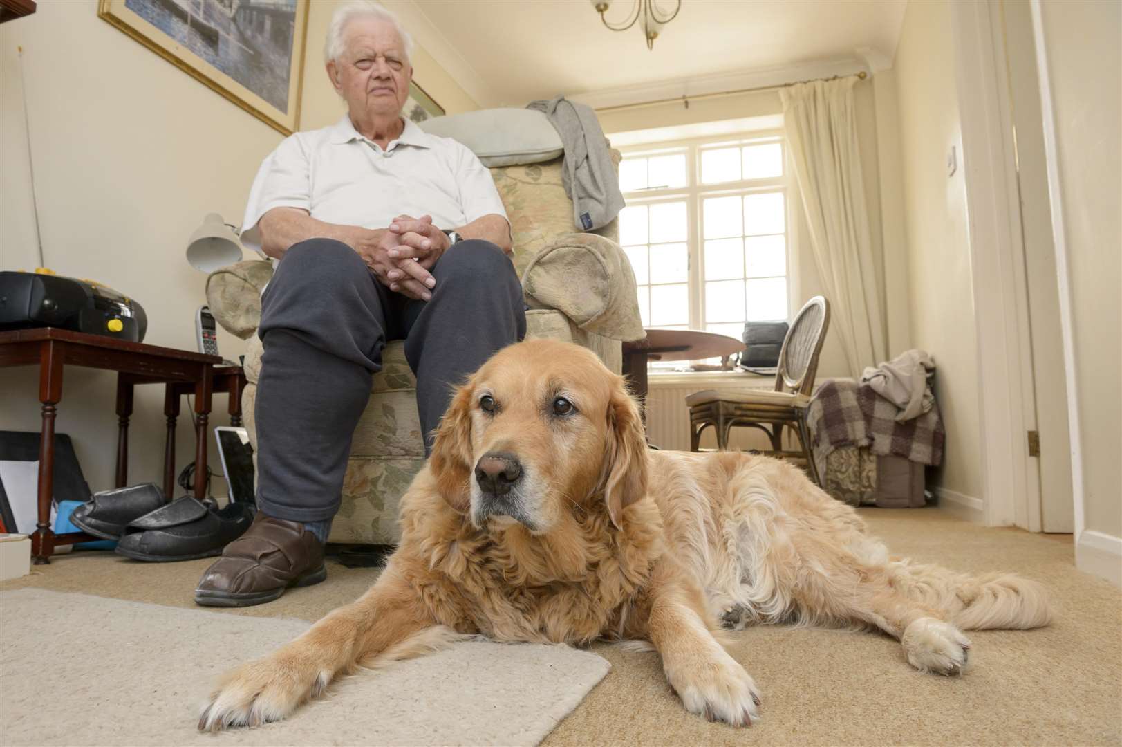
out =
[[226,546],[195,590],[204,607],[250,607],[272,602],[293,586],[328,577],[323,544],[298,521],[258,512],[252,526]]

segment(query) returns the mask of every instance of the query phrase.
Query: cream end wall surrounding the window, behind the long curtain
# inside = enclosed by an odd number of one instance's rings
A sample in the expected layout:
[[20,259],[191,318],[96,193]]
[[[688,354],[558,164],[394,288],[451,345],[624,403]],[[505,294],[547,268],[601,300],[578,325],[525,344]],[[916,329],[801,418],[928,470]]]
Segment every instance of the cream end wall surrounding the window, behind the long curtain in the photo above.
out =
[[[877,262],[879,277],[884,277],[885,266],[893,276],[902,274],[903,247],[893,244],[892,256],[885,256],[883,234],[881,230],[881,186],[880,186],[880,163],[877,148],[877,116],[874,101],[873,85],[871,80],[861,81],[855,89],[855,104],[857,110],[857,130],[861,144],[862,172],[865,183],[865,200],[870,212],[870,231],[873,242],[873,255]],[[680,125],[693,125],[700,122],[721,121],[728,119],[741,119],[745,117],[763,117],[782,112],[779,93],[774,90],[757,91],[753,93],[742,93],[736,95],[714,97],[708,99],[696,99],[690,101],[687,109],[681,103],[668,103],[653,107],[642,107],[620,110],[598,111],[600,125],[610,138],[614,133],[625,133],[632,130],[653,129],[657,127],[672,127]],[[797,192],[797,188],[795,188]],[[790,266],[792,274],[792,290],[798,298],[792,298],[794,309],[799,308],[800,301],[822,292],[821,280],[818,268],[815,265],[813,256],[809,247],[809,230],[807,228],[806,215],[802,210],[801,201],[795,193],[792,200],[792,218],[794,219],[793,236],[799,245],[798,256],[793,257]],[[899,322],[907,319],[907,301],[898,294],[891,298],[882,295],[882,308],[888,308],[889,324]],[[892,306],[894,304],[894,306]],[[907,347],[908,330],[896,330],[890,339],[895,341],[900,349],[891,350],[892,354],[901,353]],[[842,352],[840,343],[836,334],[828,332],[819,363],[820,377],[847,376],[848,367]]]

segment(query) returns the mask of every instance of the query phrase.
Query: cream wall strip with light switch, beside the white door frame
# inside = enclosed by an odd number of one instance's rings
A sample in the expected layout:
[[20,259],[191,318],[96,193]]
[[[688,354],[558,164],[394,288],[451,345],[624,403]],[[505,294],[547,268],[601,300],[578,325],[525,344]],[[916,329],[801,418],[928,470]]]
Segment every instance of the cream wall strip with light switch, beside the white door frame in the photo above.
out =
[[[940,500],[981,508],[977,348],[950,8],[910,2],[893,75],[899,103],[911,341],[935,358],[947,428]],[[955,147],[958,171],[947,175]]]

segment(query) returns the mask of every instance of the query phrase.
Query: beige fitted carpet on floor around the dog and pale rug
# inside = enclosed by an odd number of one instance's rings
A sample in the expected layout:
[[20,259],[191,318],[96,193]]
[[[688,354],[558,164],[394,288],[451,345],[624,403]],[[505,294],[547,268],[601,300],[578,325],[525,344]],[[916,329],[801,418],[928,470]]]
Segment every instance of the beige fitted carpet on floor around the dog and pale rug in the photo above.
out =
[[[764,719],[749,730],[683,711],[656,656],[596,646],[611,671],[543,745],[1122,744],[1122,593],[1075,570],[1069,539],[984,529],[934,509],[862,513],[894,553],[1042,581],[1056,598],[1056,622],[1042,630],[971,634],[974,666],[960,678],[919,674],[898,643],[873,634],[746,630],[732,653],[764,701]],[[144,565],[86,553],[0,589],[43,586],[191,607],[205,565]],[[329,574],[327,583],[238,614],[314,619],[357,596],[375,576],[335,565]],[[84,628],[75,621],[71,630]]]

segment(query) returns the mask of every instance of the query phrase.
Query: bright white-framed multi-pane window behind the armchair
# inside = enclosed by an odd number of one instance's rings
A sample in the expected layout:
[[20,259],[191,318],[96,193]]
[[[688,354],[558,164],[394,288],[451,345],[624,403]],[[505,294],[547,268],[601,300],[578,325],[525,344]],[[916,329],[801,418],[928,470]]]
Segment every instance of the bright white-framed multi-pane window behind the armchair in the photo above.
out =
[[778,134],[641,146],[619,164],[619,243],[644,327],[739,338],[788,318],[788,170]]

